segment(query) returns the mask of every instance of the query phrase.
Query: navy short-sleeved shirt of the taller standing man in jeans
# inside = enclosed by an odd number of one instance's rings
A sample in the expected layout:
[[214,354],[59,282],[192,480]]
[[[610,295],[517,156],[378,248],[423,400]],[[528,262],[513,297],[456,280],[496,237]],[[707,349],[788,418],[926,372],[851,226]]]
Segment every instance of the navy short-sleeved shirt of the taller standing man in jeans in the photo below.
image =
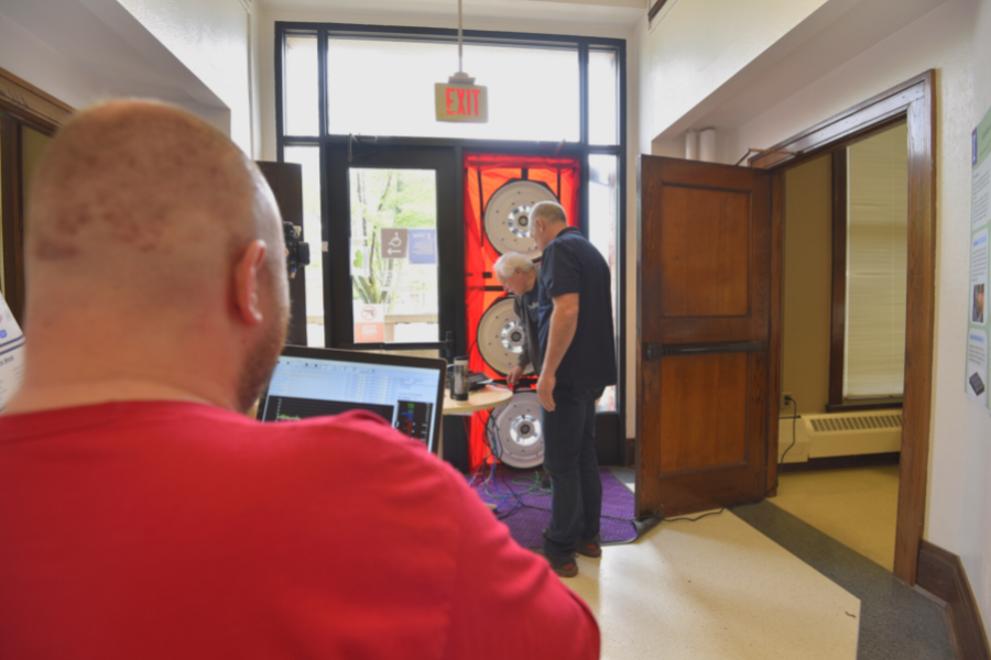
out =
[[557,385],[596,389],[616,385],[616,334],[609,265],[577,228],[562,231],[541,263],[541,354],[547,354],[553,298],[578,294],[575,339],[557,367]]

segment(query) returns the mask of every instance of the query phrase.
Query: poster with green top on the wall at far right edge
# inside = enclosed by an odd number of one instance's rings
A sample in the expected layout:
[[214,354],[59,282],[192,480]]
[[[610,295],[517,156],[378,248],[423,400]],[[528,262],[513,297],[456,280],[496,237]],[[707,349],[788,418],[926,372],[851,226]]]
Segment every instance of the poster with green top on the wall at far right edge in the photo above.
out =
[[970,279],[967,298],[967,372],[963,388],[985,409],[988,402],[988,274],[991,230],[991,109],[970,136]]

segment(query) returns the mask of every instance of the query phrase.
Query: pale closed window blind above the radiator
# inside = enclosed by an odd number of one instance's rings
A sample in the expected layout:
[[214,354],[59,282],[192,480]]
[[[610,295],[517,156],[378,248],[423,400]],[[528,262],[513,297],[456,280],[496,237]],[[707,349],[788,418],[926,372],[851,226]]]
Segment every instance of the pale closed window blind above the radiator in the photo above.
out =
[[847,150],[843,398],[904,391],[907,140],[901,124]]

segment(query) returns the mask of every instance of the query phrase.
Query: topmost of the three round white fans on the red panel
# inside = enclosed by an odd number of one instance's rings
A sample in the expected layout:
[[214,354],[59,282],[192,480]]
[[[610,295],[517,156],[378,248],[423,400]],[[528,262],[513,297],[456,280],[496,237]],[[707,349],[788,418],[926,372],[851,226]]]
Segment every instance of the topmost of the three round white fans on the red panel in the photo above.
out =
[[530,235],[530,211],[538,201],[558,200],[547,186],[524,180],[510,182],[489,198],[486,237],[496,252],[519,252],[532,260],[541,257],[541,251]]

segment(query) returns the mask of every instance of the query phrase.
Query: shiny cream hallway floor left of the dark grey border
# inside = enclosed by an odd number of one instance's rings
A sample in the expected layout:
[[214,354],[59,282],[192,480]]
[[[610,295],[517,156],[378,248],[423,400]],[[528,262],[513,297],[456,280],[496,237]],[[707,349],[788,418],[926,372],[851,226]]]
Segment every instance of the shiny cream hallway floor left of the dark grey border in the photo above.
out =
[[860,602],[734,516],[666,522],[565,580],[603,660],[854,660]]

